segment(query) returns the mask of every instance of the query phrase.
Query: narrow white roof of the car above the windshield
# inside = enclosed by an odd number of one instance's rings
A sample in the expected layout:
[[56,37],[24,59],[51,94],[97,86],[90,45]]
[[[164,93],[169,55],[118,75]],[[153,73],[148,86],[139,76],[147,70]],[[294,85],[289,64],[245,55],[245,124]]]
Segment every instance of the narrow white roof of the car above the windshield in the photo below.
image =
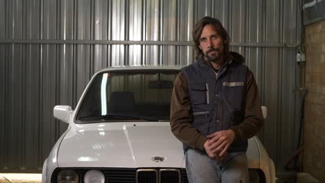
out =
[[131,65],[131,66],[115,66],[101,69],[103,71],[127,71],[127,70],[175,70],[178,71],[186,65]]

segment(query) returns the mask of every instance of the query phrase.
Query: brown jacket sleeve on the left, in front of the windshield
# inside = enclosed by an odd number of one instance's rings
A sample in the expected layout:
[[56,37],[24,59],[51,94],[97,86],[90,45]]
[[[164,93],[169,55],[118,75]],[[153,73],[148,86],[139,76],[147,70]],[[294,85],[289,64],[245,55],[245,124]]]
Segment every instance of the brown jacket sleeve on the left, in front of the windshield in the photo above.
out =
[[208,137],[199,133],[191,121],[188,82],[184,74],[180,72],[174,81],[171,101],[170,126],[172,133],[178,140],[191,148],[204,150],[203,144]]

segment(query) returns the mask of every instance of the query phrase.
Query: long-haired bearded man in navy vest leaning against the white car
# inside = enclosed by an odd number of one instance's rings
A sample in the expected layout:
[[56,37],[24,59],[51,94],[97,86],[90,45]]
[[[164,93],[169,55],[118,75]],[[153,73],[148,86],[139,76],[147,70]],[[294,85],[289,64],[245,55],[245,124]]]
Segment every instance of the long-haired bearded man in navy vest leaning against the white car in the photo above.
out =
[[258,87],[212,17],[192,32],[197,62],[178,74],[170,123],[183,142],[189,182],[248,182],[247,139],[263,125]]

